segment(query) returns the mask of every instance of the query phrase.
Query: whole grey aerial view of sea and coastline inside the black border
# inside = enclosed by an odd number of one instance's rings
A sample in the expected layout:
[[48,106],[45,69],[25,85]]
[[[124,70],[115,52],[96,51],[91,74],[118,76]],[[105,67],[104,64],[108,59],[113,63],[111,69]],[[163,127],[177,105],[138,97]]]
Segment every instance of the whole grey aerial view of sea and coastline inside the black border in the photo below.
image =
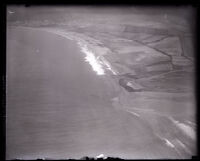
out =
[[6,159],[196,155],[191,6],[8,6]]

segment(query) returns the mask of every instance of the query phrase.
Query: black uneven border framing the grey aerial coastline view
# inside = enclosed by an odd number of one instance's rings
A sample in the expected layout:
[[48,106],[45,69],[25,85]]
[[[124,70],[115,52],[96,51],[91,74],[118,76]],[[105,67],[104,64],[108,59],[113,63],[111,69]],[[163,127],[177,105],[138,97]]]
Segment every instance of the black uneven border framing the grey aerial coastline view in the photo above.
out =
[[[138,5],[138,6],[184,6],[190,5],[194,7],[196,10],[196,24],[195,24],[195,87],[196,87],[196,121],[197,121],[197,135],[199,135],[199,87],[200,87],[200,38],[199,38],[199,4],[198,0],[123,0],[123,1],[105,1],[105,0],[90,0],[90,1],[66,1],[66,0],[8,0],[0,2],[0,38],[1,38],[1,62],[0,62],[0,70],[1,70],[1,108],[0,108],[0,125],[1,125],[1,133],[0,133],[0,159],[5,160],[6,153],[6,6],[7,5],[25,5],[25,6],[34,6],[34,5],[98,5],[98,6],[126,6],[126,5]],[[85,158],[86,160],[90,160],[90,158]],[[108,158],[112,159],[112,158]],[[120,158],[113,158],[114,160],[120,160]],[[191,159],[199,159],[199,139],[197,137],[197,155],[193,156]]]

